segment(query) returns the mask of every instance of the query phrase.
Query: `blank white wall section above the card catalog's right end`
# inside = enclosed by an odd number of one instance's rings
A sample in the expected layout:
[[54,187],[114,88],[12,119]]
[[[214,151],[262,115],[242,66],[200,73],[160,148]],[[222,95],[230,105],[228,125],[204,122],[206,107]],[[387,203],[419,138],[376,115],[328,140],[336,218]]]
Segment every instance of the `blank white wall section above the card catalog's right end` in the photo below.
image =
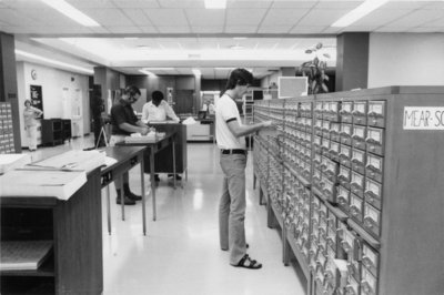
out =
[[443,85],[444,33],[371,33],[369,88]]

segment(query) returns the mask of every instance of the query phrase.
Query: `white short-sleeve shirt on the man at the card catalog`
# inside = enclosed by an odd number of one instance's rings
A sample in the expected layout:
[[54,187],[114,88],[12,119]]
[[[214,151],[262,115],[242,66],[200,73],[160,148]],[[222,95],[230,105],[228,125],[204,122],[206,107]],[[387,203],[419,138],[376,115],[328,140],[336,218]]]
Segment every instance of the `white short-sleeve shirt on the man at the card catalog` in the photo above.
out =
[[236,138],[229,129],[228,123],[232,120],[236,120],[242,125],[236,103],[230,95],[223,94],[215,104],[215,139],[218,146],[223,150],[245,150],[244,136]]

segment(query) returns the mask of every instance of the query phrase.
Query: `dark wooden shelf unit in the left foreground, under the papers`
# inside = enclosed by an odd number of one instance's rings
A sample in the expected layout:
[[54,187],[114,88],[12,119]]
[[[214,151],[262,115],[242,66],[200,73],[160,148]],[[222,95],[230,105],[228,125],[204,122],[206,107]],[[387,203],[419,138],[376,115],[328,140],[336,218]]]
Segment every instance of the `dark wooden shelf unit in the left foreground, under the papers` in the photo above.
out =
[[0,197],[2,241],[53,241],[37,271],[0,272],[1,294],[102,294],[100,170],[68,201]]

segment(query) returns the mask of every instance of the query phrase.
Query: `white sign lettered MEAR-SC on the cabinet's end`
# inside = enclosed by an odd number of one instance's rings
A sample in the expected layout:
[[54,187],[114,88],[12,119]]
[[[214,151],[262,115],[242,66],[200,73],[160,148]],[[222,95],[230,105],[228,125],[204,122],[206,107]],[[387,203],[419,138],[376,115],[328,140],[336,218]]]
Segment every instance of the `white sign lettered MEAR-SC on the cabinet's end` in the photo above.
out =
[[444,106],[404,106],[404,130],[444,130]]

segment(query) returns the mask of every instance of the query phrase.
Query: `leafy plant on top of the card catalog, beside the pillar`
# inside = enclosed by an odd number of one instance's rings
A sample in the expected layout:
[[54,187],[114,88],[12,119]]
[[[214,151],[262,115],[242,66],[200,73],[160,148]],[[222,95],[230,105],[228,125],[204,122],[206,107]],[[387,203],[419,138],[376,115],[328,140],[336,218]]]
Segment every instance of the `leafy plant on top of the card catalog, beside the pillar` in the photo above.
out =
[[314,48],[305,50],[307,54],[314,53],[314,58],[313,60],[303,62],[299,67],[302,77],[306,77],[309,80],[309,94],[329,92],[329,88],[325,84],[325,82],[329,81],[329,75],[325,73],[325,59],[330,59],[330,54],[322,53],[323,59],[320,60],[317,54],[320,54],[322,48],[322,43],[317,43]]

